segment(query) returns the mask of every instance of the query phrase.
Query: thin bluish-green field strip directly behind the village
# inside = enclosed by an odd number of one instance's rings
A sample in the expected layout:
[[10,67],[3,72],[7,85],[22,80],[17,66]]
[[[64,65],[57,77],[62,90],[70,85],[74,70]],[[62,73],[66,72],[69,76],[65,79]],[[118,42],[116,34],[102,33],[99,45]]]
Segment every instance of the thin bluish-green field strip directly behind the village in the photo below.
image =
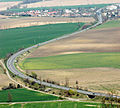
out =
[[102,8],[111,4],[95,4],[95,5],[77,5],[77,6],[57,6],[57,7],[38,7],[38,8],[24,8],[24,9],[10,9],[7,12],[26,12],[30,10],[41,10],[41,9],[65,9],[65,8]]

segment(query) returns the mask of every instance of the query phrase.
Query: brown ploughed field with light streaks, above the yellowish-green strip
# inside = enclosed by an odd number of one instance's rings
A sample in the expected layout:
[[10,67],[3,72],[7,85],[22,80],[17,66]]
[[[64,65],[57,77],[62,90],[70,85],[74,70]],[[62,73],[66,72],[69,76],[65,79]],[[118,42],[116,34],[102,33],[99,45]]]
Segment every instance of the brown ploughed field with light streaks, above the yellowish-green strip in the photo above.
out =
[[120,52],[120,28],[89,30],[39,47],[28,58],[69,53]]

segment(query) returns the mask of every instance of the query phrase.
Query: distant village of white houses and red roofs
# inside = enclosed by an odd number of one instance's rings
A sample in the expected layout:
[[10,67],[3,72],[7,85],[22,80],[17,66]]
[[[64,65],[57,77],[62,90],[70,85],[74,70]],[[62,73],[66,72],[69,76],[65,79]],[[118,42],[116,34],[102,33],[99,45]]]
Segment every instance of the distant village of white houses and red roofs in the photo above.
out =
[[[65,8],[65,9],[36,9],[21,12],[2,12],[6,16],[28,16],[28,17],[95,17],[97,7],[87,8]],[[114,4],[102,9],[103,19],[106,21],[112,18],[120,17],[120,4]]]

